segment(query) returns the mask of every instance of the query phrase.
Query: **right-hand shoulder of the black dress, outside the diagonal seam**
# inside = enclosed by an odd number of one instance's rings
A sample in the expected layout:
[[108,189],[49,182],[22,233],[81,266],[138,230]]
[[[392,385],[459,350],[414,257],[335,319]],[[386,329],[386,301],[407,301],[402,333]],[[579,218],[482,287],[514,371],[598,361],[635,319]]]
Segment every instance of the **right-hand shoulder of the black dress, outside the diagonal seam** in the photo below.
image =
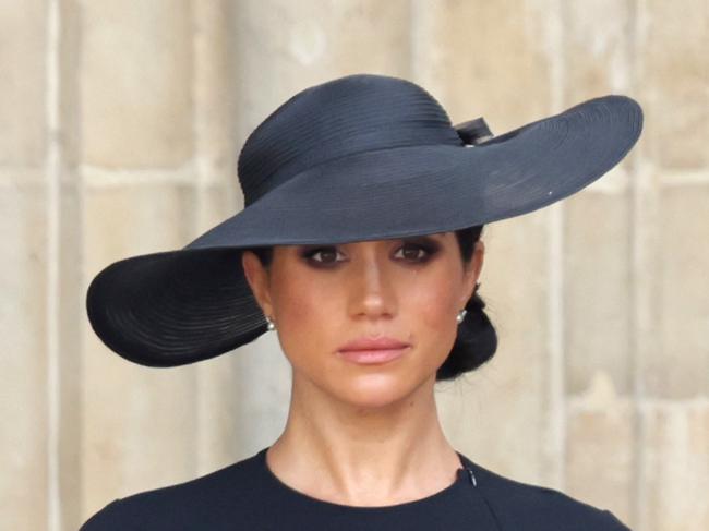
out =
[[502,529],[629,531],[608,509],[593,507],[554,488],[505,478],[470,461],[468,464]]

